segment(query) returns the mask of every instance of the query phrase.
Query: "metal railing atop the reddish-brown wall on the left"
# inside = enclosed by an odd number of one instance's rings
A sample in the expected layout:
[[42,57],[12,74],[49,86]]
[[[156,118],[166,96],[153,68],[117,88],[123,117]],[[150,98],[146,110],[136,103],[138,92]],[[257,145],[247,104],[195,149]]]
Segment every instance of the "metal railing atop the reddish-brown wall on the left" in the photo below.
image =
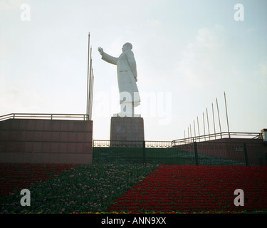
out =
[[89,120],[88,114],[11,113],[1,115],[0,121],[8,119]]

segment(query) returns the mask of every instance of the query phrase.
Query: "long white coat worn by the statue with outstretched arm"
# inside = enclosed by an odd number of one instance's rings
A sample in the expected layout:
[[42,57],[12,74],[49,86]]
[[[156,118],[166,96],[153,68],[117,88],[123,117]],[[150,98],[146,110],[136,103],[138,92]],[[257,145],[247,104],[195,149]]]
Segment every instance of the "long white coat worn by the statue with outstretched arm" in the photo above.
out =
[[[117,65],[117,83],[119,86],[120,95],[123,92],[130,93],[135,106],[140,105],[140,95],[136,85],[137,69],[134,53],[131,50],[122,52],[120,57],[112,57],[103,52],[102,59],[108,63]],[[120,100],[122,103],[122,100]]]

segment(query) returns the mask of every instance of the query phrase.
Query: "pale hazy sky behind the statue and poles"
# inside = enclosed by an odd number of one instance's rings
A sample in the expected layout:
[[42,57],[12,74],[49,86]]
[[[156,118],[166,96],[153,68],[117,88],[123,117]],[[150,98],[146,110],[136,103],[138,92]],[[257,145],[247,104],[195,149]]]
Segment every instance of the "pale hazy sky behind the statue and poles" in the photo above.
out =
[[184,138],[197,116],[203,135],[206,108],[214,133],[211,103],[218,133],[216,98],[227,131],[224,91],[230,131],[267,128],[265,0],[0,2],[0,115],[86,113],[90,32],[94,139],[109,139],[120,111],[116,66],[98,47],[119,56],[126,42],[137,61],[145,140]]

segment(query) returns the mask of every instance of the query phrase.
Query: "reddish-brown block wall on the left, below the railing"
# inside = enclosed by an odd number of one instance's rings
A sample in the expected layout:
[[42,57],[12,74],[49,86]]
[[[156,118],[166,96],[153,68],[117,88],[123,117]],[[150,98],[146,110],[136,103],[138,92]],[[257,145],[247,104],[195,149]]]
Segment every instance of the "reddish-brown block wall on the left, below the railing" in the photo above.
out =
[[0,122],[0,162],[91,164],[93,121]]

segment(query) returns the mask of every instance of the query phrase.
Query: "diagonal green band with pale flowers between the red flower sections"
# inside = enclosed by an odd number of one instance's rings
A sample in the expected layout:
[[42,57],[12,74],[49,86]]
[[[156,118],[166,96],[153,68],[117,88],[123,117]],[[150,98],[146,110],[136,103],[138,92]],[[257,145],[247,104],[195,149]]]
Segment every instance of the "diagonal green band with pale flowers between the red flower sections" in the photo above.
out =
[[[145,179],[157,165],[80,165],[28,186],[31,206],[20,192],[0,198],[0,213],[107,212],[110,204]],[[28,172],[30,175],[30,172]],[[27,177],[25,177],[26,180]],[[23,185],[21,188],[26,186]],[[21,190],[21,189],[20,189]]]

